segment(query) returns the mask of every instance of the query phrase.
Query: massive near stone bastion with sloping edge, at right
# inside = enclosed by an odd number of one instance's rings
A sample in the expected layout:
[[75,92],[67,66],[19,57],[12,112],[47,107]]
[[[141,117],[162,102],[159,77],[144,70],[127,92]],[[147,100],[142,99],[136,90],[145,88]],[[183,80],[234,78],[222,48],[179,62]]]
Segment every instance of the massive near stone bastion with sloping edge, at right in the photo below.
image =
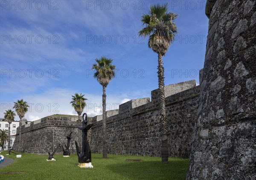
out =
[[207,0],[209,34],[187,179],[256,179],[256,1]]

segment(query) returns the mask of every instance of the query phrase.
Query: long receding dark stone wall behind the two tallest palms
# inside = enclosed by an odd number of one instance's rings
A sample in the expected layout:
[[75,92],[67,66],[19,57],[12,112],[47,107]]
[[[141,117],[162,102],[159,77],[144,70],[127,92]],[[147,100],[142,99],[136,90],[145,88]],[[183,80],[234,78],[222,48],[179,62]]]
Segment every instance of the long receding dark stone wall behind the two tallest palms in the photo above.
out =
[[[166,97],[171,157],[189,157],[199,91],[197,86]],[[155,99],[155,93],[152,95],[151,99]],[[108,153],[160,156],[158,117],[159,107],[149,98],[119,105],[119,113],[107,118]],[[102,121],[97,119],[93,117],[91,151],[102,153]]]

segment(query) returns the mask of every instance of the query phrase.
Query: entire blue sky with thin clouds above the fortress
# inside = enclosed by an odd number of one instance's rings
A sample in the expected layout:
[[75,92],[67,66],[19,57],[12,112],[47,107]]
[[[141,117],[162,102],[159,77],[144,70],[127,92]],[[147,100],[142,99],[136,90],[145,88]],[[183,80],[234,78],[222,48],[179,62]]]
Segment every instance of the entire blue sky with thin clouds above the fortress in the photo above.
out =
[[[85,94],[89,116],[101,114],[102,87],[91,71],[95,58],[113,59],[116,78],[107,87],[107,110],[158,88],[157,54],[138,32],[143,13],[169,3],[178,35],[163,57],[165,84],[195,79],[204,66],[206,0],[1,1],[0,118],[17,99],[30,105],[29,121],[74,114],[74,93]],[[18,120],[18,116],[15,120]]]

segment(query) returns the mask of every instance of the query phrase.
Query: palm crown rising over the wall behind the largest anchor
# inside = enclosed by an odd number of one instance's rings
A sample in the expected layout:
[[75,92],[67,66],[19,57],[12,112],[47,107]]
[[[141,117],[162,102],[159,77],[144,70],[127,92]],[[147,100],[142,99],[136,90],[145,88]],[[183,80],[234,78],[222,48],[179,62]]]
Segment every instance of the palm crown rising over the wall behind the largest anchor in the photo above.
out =
[[80,93],[80,95],[78,93],[75,93],[75,96],[72,96],[72,101],[70,102],[70,104],[74,107],[76,113],[78,114],[78,121],[81,122],[81,113],[84,110],[84,107],[86,106],[86,101],[87,99],[84,98],[84,94],[82,95],[82,93]]

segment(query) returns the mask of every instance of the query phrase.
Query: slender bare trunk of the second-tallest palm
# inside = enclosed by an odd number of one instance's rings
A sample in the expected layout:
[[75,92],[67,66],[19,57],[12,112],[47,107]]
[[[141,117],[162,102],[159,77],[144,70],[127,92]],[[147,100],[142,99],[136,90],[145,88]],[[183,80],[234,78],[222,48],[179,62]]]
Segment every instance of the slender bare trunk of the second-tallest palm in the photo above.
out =
[[107,132],[106,132],[106,87],[103,87],[102,94],[102,148],[103,148],[103,158],[107,158]]

